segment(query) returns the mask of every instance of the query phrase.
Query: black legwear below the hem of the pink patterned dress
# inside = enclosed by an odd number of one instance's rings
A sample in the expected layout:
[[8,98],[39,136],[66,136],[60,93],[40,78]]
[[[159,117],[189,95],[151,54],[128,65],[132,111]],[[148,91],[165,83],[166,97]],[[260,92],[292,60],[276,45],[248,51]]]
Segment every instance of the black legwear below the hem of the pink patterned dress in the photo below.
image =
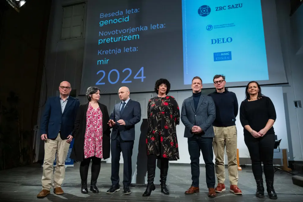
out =
[[99,173],[101,169],[101,159],[92,156],[87,159],[83,159],[83,161],[80,163],[81,181],[87,181],[88,167],[91,160],[92,160],[92,181],[97,181],[99,177]]

